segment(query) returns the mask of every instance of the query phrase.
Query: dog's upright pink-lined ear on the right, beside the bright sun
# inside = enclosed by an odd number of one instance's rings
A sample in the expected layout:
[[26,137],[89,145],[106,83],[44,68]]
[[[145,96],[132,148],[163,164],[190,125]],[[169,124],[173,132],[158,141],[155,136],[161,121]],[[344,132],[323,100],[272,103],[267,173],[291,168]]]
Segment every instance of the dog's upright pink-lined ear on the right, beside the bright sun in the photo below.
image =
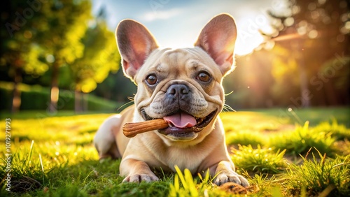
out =
[[235,20],[228,14],[221,14],[206,24],[195,46],[205,50],[225,75],[233,68],[236,38]]

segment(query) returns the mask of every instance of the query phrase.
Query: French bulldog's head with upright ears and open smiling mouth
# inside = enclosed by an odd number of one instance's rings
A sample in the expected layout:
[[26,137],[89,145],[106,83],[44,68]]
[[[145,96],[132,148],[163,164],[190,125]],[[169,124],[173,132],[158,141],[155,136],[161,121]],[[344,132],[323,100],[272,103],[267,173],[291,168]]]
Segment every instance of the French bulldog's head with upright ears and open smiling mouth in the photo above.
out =
[[237,37],[230,15],[214,17],[194,48],[159,49],[152,34],[134,20],[116,30],[123,71],[138,86],[134,121],[163,118],[155,131],[166,143],[200,142],[214,129],[223,109],[223,76],[232,71]]

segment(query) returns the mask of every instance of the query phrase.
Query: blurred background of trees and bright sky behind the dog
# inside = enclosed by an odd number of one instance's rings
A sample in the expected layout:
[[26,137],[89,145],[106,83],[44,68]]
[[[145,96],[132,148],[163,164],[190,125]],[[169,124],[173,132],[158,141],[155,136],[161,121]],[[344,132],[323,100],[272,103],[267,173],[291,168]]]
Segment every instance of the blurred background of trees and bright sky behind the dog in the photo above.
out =
[[120,112],[137,87],[120,67],[118,22],[138,20],[161,46],[191,47],[219,13],[230,13],[238,28],[237,67],[223,82],[231,108],[348,108],[349,6],[345,0],[2,1],[0,110]]

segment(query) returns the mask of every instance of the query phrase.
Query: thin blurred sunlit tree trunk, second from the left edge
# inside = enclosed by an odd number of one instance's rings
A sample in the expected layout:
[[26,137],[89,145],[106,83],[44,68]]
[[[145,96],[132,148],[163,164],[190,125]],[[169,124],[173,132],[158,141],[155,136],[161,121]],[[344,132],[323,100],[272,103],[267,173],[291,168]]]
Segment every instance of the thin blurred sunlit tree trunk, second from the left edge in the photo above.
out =
[[57,112],[57,101],[59,96],[58,88],[59,62],[56,60],[52,66],[51,91],[50,91],[50,112]]

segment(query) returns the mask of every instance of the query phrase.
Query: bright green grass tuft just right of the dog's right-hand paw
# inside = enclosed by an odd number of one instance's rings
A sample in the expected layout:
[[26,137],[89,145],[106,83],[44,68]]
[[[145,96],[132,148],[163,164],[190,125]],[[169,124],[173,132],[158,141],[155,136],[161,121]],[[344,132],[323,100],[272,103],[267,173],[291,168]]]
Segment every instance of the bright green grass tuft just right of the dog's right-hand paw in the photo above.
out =
[[274,152],[272,148],[253,149],[251,145],[232,149],[232,161],[237,168],[242,168],[252,173],[281,173],[287,163],[283,159],[286,150]]

